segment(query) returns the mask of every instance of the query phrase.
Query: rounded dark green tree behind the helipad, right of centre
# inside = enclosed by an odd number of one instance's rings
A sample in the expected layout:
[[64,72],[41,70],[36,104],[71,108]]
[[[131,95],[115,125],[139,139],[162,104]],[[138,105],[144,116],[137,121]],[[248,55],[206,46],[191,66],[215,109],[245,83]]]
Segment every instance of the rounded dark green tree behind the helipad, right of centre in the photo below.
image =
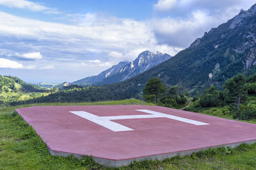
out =
[[158,78],[151,78],[146,83],[145,88],[143,89],[143,96],[146,98],[149,98],[152,100],[152,95],[155,95],[155,102],[158,102],[159,96],[164,94],[164,91],[166,91],[166,86],[161,82]]

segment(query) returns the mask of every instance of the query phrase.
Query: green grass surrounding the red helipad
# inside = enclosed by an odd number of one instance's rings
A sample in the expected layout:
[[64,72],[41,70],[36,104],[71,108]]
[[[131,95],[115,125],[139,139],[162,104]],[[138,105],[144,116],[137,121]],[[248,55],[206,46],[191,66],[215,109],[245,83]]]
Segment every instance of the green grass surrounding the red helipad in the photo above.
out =
[[[140,100],[121,100],[79,104],[33,105],[115,105],[144,104]],[[42,139],[28,126],[14,109],[20,105],[0,109],[0,169],[115,169],[100,166],[91,157],[81,160],[73,157],[54,157],[49,154]],[[255,169],[256,144],[242,144],[236,149],[218,148],[194,153],[187,157],[134,162],[120,169]]]

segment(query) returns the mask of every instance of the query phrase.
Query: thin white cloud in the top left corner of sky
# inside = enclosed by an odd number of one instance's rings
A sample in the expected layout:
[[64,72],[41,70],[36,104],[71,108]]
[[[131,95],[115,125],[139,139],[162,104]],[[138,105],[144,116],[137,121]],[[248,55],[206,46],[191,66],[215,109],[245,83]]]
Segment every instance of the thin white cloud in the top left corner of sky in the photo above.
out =
[[28,9],[32,12],[59,13],[57,10],[44,6],[43,4],[26,0],[0,0],[0,4],[10,8]]

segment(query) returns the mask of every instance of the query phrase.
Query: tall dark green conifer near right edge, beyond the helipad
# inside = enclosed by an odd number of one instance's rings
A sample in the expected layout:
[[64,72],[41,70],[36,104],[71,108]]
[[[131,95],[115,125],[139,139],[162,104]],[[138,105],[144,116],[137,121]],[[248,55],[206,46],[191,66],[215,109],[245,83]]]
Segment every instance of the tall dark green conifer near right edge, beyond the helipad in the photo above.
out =
[[246,77],[238,73],[224,84],[225,100],[229,103],[236,103],[236,111],[241,102],[246,102],[248,91]]

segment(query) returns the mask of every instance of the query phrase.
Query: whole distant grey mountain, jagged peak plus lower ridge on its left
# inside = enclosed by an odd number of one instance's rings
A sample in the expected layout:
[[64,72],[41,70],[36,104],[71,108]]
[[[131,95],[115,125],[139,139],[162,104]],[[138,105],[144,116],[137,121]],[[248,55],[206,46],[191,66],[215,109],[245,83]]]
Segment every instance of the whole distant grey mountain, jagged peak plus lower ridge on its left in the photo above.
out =
[[123,61],[114,65],[108,70],[99,73],[99,75],[86,77],[79,81],[72,82],[72,84],[79,85],[99,85],[99,84],[111,84],[113,82],[125,81],[131,77],[134,77],[140,73],[143,73],[150,68],[163,63],[172,56],[169,54],[162,54],[157,51],[157,54],[146,50],[141,52],[141,54],[134,61],[130,63]]

